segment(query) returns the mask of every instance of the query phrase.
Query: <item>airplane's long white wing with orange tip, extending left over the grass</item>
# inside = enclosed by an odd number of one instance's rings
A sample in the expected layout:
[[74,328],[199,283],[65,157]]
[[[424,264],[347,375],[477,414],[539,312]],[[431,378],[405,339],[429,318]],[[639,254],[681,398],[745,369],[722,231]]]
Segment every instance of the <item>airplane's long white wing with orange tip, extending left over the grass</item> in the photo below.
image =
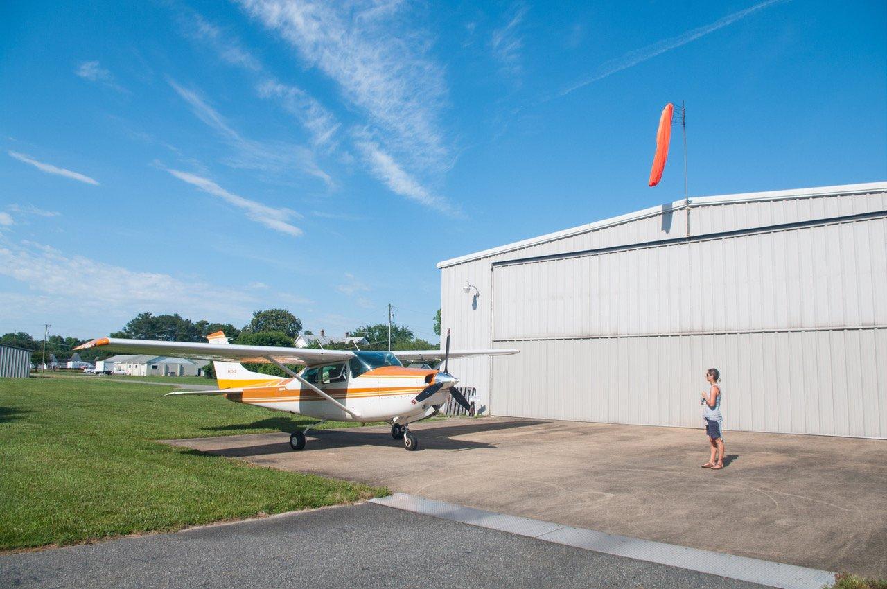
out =
[[103,337],[91,340],[75,349],[100,348],[130,354],[193,357],[222,362],[257,362],[271,364],[272,358],[280,364],[313,365],[320,362],[340,362],[354,357],[345,349],[276,348],[273,346],[244,346],[236,343],[157,342],[154,340],[125,340]]

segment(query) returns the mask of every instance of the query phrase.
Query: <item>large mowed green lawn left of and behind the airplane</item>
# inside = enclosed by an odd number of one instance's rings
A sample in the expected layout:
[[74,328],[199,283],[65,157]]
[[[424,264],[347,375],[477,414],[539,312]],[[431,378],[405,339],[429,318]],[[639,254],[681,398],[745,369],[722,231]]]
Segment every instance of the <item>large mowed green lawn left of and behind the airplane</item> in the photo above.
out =
[[220,397],[164,398],[169,390],[0,379],[0,549],[178,530],[389,492],[158,444],[310,423]]

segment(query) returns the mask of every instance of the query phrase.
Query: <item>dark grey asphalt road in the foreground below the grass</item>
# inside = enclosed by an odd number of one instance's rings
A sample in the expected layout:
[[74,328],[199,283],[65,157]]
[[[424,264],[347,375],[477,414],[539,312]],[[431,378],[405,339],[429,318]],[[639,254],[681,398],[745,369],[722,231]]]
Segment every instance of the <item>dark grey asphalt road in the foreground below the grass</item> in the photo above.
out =
[[365,503],[0,556],[7,587],[758,587]]

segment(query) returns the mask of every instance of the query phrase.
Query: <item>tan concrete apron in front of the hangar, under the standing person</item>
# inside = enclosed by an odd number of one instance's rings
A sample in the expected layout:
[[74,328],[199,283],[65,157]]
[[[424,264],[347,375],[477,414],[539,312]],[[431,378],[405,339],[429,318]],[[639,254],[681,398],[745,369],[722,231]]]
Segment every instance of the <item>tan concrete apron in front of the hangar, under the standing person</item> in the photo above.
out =
[[428,499],[679,546],[887,577],[887,442],[725,432],[727,467],[702,429],[565,421],[416,424],[406,452],[388,427],[169,444],[385,485]]

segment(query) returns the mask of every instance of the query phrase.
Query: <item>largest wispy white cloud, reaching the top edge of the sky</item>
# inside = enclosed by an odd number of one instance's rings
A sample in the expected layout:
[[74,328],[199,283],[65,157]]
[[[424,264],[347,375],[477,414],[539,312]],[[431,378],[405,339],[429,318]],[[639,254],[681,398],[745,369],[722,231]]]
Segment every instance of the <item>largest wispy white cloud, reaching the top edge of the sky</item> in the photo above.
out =
[[[397,169],[403,174],[409,170],[412,184],[419,186],[410,192],[428,192],[416,176],[437,177],[451,165],[440,130],[447,88],[443,67],[429,57],[433,39],[404,26],[401,12],[409,4],[240,4],[277,31],[307,65],[332,79],[342,98],[365,115],[366,134]],[[370,163],[371,171],[390,187],[389,176]]]

